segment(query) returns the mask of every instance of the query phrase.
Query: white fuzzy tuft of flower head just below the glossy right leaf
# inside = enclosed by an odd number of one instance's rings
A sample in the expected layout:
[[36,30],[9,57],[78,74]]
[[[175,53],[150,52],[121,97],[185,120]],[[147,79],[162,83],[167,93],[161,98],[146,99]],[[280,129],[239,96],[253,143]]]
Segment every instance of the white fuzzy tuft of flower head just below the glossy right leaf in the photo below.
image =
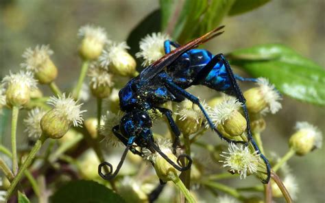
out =
[[260,86],[261,94],[267,103],[267,108],[263,109],[261,113],[272,112],[272,114],[275,114],[278,112],[278,110],[282,108],[282,105],[279,102],[282,97],[276,91],[274,84],[270,84],[269,80],[264,77],[258,77],[257,84]]

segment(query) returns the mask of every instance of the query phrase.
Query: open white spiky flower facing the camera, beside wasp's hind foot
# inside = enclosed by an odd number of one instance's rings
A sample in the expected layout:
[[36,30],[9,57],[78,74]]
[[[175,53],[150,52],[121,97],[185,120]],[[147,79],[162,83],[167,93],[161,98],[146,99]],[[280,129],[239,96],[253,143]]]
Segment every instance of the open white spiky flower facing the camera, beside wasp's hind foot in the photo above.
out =
[[230,143],[229,152],[221,152],[220,156],[225,160],[219,160],[224,163],[223,167],[230,167],[230,171],[240,174],[240,178],[246,178],[249,174],[254,174],[258,170],[258,152],[251,153],[248,147]]

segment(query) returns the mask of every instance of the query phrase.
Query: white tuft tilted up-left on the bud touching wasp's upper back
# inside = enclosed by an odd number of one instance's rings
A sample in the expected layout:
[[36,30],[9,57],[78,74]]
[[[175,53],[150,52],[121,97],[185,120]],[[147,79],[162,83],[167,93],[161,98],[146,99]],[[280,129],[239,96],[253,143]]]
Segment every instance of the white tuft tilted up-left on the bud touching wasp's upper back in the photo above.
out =
[[103,53],[101,53],[101,56],[99,56],[99,62],[101,66],[108,69],[108,65],[112,62],[115,62],[115,60],[118,60],[118,58],[121,56],[121,53],[125,52],[127,49],[130,49],[130,47],[125,42],[109,43],[107,49],[104,49]]

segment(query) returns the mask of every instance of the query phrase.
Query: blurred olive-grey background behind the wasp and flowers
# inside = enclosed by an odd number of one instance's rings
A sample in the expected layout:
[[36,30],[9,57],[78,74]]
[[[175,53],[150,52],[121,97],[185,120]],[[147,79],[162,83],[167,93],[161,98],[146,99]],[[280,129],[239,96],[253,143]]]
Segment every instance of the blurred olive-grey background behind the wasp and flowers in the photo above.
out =
[[[49,44],[54,51],[51,58],[59,69],[58,86],[69,91],[80,73],[81,61],[77,54],[77,30],[80,26],[99,25],[106,28],[112,40],[122,41],[141,19],[158,7],[158,1],[152,0],[1,0],[0,77],[8,74],[9,70],[16,72],[20,69],[21,55],[27,47]],[[228,53],[252,45],[281,43],[324,67],[324,8],[325,1],[322,0],[273,0],[252,12],[227,17],[222,23],[226,25],[226,32],[205,46],[212,53]],[[50,92],[47,87],[43,90]],[[197,88],[192,91],[197,91]],[[214,95],[217,93],[204,91],[202,97]],[[91,108],[95,101],[86,105],[87,109],[95,109]],[[267,129],[262,139],[268,152],[278,155],[287,152],[288,138],[296,121],[309,121],[325,132],[324,107],[304,104],[289,97],[284,97],[282,106],[276,115],[266,117]],[[95,115],[95,112],[88,110],[87,114]],[[19,130],[23,132],[23,126]],[[5,135],[0,135],[2,143],[9,147],[10,138]],[[207,139],[219,142],[215,136]],[[19,144],[25,145],[26,138],[22,136]],[[323,147],[289,161],[300,187],[297,202],[325,202],[324,152]],[[239,184],[245,185],[243,182],[241,180]]]

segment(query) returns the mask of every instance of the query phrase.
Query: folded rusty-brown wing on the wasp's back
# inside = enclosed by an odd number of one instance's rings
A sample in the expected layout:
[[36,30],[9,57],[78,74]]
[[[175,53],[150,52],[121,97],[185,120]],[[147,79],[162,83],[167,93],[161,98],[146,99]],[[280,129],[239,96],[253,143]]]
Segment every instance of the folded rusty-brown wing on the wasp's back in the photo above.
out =
[[149,67],[146,67],[145,69],[143,69],[143,71],[141,71],[140,75],[137,77],[137,80],[140,80],[141,83],[151,80],[165,67],[169,66],[169,64],[171,64],[178,57],[180,57],[182,53],[188,51],[189,49],[193,49],[198,45],[201,45],[202,43],[205,43],[206,41],[210,40],[211,38],[214,38],[215,36],[222,34],[223,32],[218,32],[222,28],[224,28],[224,26],[217,27],[216,29],[213,29],[212,31],[204,34],[203,36],[191,40],[191,42],[187,43],[186,45],[182,45],[182,47],[174,49],[159,60],[156,60],[156,62],[153,62],[149,65]]

